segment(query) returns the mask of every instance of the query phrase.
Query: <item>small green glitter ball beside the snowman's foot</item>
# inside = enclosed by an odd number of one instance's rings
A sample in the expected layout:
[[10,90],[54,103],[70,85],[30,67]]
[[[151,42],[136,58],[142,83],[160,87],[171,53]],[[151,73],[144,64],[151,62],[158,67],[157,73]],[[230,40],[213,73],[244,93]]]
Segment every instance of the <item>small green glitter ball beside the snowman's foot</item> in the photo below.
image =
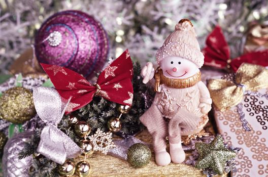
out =
[[127,161],[135,168],[147,165],[151,159],[151,150],[142,143],[132,145],[127,151]]

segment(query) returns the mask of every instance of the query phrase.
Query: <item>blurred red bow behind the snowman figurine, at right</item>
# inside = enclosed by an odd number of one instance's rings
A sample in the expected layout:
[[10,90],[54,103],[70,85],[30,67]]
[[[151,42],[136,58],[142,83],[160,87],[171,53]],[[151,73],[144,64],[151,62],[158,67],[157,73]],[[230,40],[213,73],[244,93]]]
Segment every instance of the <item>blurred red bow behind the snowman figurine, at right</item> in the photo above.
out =
[[268,50],[251,52],[238,58],[230,58],[230,49],[223,36],[220,26],[216,26],[206,40],[207,47],[203,49],[205,56],[204,65],[214,66],[220,69],[230,68],[237,71],[242,63],[251,63],[268,66]]

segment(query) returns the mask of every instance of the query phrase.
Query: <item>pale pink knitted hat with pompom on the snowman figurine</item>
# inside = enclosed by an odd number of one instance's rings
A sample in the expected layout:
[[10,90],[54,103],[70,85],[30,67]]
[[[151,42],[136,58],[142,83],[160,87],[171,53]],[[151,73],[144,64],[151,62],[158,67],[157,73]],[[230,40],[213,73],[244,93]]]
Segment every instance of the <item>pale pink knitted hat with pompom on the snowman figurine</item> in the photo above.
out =
[[159,63],[168,56],[182,57],[195,63],[198,68],[204,64],[204,55],[200,51],[199,43],[190,20],[182,19],[164,41],[156,53]]

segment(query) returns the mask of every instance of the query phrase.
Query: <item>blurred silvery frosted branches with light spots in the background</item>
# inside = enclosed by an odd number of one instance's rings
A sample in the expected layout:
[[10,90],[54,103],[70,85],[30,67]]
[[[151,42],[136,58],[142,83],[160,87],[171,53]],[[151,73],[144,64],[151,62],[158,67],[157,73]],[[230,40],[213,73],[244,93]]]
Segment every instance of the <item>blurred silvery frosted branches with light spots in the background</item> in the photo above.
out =
[[0,0],[0,73],[30,48],[42,22],[55,12],[74,9],[101,21],[110,36],[110,56],[126,48],[144,64],[182,18],[193,21],[201,47],[219,24],[232,57],[242,53],[248,23],[268,23],[266,0]]

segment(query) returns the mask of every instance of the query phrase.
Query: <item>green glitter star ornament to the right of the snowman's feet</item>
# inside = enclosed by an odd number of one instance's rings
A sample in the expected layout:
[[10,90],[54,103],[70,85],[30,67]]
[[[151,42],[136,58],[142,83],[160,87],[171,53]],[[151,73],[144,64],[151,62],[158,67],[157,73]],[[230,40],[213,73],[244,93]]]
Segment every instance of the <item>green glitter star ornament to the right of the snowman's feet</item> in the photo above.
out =
[[217,174],[224,172],[226,161],[235,158],[237,154],[224,147],[223,138],[218,135],[210,144],[196,143],[195,148],[199,153],[196,168],[211,168]]

